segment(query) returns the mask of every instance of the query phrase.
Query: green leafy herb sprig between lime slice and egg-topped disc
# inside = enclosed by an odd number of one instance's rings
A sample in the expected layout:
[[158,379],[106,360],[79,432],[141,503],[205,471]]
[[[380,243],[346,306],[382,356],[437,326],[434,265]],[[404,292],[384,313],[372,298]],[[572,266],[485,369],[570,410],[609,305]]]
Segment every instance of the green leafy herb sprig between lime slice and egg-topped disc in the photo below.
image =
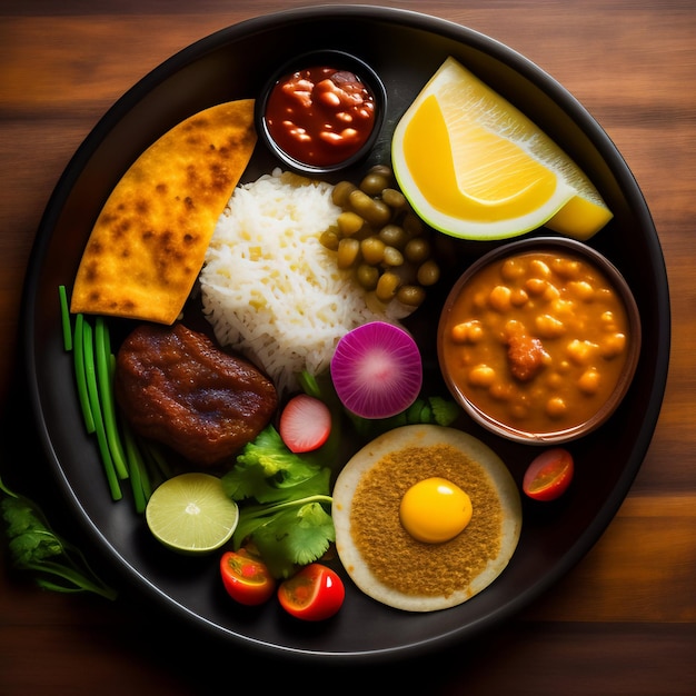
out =
[[335,540],[330,469],[291,453],[274,426],[246,445],[222,476],[227,495],[239,505],[232,536],[238,549],[252,543],[277,578],[320,558]]

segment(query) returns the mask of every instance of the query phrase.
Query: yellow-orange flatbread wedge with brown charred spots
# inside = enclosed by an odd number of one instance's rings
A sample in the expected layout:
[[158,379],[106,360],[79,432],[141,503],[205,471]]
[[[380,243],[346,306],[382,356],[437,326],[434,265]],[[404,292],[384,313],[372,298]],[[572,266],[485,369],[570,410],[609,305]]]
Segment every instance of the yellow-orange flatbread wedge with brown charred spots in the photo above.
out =
[[172,324],[256,145],[253,100],[175,126],[128,169],[84,248],[73,314]]

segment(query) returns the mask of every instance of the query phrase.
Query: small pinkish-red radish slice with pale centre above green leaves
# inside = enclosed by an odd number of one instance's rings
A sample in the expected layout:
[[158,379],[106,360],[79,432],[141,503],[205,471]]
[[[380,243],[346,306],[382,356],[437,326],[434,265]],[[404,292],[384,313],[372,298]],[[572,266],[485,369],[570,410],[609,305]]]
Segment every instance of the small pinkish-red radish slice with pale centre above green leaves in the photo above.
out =
[[290,451],[312,451],[329,437],[331,412],[324,401],[308,394],[298,394],[282,409],[278,429]]

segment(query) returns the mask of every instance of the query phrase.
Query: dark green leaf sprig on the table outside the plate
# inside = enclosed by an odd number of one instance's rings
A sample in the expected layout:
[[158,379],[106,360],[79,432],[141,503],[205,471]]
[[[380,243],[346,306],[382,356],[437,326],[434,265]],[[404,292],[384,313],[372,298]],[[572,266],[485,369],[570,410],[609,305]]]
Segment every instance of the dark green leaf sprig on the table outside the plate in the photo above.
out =
[[116,599],[116,590],[95,574],[80,549],[51,529],[36,503],[11,491],[2,479],[0,513],[7,523],[12,565],[32,574],[39,587],[59,593],[89,591]]

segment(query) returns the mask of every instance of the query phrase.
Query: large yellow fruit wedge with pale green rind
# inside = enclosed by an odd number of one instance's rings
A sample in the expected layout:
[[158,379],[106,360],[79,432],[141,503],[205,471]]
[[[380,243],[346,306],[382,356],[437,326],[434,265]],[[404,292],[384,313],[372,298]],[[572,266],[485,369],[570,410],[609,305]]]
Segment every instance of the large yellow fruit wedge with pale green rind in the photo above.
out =
[[613,217],[546,133],[451,57],[397,123],[391,157],[416,212],[454,237],[506,239],[546,226],[584,240]]

